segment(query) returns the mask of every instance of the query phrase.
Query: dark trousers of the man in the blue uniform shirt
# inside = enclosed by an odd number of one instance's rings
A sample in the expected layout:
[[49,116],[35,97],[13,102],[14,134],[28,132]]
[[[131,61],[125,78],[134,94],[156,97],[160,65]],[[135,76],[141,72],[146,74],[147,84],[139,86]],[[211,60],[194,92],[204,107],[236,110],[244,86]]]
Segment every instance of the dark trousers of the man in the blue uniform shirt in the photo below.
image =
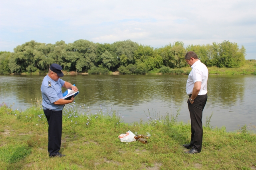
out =
[[44,110],[48,121],[48,152],[50,156],[59,154],[62,134],[62,111]]

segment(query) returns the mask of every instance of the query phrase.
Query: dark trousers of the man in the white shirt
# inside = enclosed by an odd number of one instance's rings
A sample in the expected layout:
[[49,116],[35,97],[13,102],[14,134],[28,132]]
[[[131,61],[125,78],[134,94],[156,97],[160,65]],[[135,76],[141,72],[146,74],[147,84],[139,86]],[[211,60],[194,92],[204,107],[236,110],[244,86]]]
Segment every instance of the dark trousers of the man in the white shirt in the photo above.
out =
[[192,149],[201,152],[202,150],[202,142],[203,142],[203,125],[202,125],[202,117],[203,110],[207,101],[206,95],[198,95],[194,100],[194,103],[191,104],[188,99],[188,110],[190,113],[191,120],[191,141],[190,145]]

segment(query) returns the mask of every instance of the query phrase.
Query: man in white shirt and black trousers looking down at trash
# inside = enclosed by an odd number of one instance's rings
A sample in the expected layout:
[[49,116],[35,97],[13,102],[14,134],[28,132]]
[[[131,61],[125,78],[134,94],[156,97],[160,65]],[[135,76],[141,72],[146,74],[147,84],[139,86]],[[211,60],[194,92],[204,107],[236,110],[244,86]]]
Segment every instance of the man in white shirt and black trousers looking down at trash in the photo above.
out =
[[189,96],[188,110],[191,120],[191,141],[190,144],[183,144],[183,146],[188,149],[191,148],[185,153],[194,154],[202,150],[202,116],[207,101],[208,69],[204,63],[201,63],[194,51],[188,51],[185,59],[188,65],[192,67],[186,85],[186,92]]

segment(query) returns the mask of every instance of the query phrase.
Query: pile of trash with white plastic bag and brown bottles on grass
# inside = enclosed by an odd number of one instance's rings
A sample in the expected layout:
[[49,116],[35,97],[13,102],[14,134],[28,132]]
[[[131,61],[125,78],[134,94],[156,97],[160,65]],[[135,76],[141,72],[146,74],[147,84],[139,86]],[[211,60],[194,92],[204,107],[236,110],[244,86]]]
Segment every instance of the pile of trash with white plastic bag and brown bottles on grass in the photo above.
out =
[[128,130],[125,134],[122,133],[118,136],[118,138],[120,139],[121,142],[134,142],[136,140],[146,144],[148,143],[148,138],[150,138],[151,134],[149,134],[149,132],[146,132],[147,135],[143,135],[143,134],[138,134],[138,132],[135,132],[135,134],[133,132],[131,132],[130,130]]

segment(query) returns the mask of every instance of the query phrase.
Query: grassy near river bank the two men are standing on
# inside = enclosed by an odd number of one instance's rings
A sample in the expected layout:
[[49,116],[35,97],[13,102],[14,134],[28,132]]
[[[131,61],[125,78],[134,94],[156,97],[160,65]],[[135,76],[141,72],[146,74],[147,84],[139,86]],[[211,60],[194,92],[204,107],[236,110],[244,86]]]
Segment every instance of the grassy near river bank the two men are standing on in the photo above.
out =
[[[76,108],[84,110],[78,115]],[[40,101],[24,110],[0,106],[0,169],[33,170],[144,170],[144,169],[256,169],[256,134],[246,125],[238,132],[204,127],[202,152],[184,154],[190,142],[190,124],[178,123],[178,111],[147,121],[123,123],[122,115],[99,106],[91,113],[85,105],[66,105],[63,111],[63,158],[49,158],[48,124]],[[122,143],[118,135],[131,130],[149,132],[148,144]]]

